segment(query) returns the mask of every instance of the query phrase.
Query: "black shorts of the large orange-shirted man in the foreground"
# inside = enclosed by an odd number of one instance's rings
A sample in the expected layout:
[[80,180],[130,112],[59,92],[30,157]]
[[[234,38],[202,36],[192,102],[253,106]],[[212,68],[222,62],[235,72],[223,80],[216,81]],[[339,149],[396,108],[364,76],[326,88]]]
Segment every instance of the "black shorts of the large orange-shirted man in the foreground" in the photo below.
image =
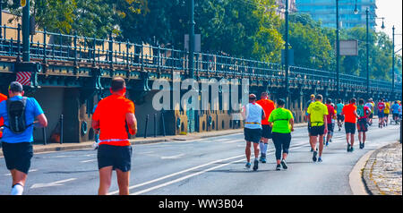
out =
[[122,172],[130,171],[132,167],[132,146],[112,146],[101,144],[98,149],[98,168],[112,166]]

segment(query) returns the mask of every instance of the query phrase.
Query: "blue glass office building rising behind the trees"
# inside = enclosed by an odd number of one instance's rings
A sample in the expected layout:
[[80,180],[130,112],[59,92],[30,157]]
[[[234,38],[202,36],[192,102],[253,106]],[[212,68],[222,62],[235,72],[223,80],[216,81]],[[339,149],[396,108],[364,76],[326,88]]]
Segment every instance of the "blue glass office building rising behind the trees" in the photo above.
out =
[[[339,21],[341,29],[366,25],[365,10],[369,8],[369,25],[375,29],[376,0],[339,0]],[[354,13],[354,9],[358,13]],[[296,0],[297,13],[310,13],[315,21],[322,21],[324,27],[336,28],[336,0]]]

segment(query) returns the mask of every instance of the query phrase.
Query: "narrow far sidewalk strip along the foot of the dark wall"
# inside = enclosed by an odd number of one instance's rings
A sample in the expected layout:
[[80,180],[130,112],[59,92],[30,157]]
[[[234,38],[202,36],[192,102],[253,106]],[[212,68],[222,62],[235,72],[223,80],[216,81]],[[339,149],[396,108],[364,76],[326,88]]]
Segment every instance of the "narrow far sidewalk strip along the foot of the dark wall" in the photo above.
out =
[[[306,126],[305,123],[295,124],[295,127],[303,127]],[[236,130],[223,130],[223,131],[211,131],[211,132],[195,132],[188,133],[187,135],[169,135],[169,136],[149,136],[146,139],[143,137],[135,138],[130,140],[132,145],[134,144],[148,144],[148,143],[157,143],[164,141],[191,141],[203,138],[210,137],[218,137],[224,136],[228,134],[236,134],[243,133],[244,129],[236,129]],[[243,138],[244,136],[242,136]],[[33,150],[34,153],[48,152],[48,151],[62,151],[62,150],[73,150],[73,149],[91,149],[94,141],[86,141],[81,143],[48,143],[47,145],[43,144],[34,144]],[[3,157],[3,150],[0,149],[0,157]]]

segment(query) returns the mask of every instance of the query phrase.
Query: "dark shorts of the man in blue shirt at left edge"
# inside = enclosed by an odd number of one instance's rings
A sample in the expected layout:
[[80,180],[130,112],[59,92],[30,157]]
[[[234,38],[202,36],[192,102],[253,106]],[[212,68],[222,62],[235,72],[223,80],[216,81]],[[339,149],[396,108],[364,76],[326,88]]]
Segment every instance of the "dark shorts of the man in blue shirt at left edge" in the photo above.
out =
[[30,159],[33,156],[32,143],[7,143],[2,142],[5,166],[8,170],[16,169],[28,174],[30,170]]

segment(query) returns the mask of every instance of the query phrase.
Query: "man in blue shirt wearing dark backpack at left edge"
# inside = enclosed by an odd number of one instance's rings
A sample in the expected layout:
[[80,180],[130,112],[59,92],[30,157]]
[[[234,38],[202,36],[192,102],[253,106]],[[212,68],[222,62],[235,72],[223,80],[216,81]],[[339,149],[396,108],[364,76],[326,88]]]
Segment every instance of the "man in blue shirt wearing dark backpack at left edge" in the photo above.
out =
[[[8,94],[9,101],[22,99],[24,91],[21,83],[13,81],[8,88]],[[32,124],[39,123],[41,127],[46,127],[47,118],[35,98],[26,98],[25,123],[27,128],[24,132],[14,133],[8,127],[10,126],[10,119],[7,112],[7,103],[8,101],[0,103],[0,117],[4,118],[2,148],[5,165],[13,176],[13,189],[11,194],[21,195],[30,169],[30,159],[33,156]],[[35,119],[37,119],[38,122],[34,122]]]

